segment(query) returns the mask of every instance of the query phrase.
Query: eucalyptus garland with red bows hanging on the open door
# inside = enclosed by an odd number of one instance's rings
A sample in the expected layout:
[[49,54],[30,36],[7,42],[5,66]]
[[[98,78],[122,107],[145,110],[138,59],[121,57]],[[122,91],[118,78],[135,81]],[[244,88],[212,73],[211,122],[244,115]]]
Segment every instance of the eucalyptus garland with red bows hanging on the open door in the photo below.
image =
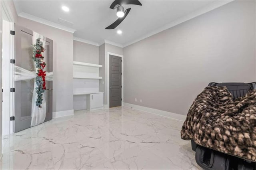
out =
[[36,99],[36,106],[41,108],[42,101],[43,101],[43,94],[46,89],[45,87],[45,76],[46,72],[44,71],[44,67],[46,66],[46,63],[44,62],[44,56],[42,56],[42,53],[44,52],[43,42],[40,42],[40,38],[36,39],[36,44],[33,45],[33,61],[36,65],[36,93],[37,93],[37,99]]

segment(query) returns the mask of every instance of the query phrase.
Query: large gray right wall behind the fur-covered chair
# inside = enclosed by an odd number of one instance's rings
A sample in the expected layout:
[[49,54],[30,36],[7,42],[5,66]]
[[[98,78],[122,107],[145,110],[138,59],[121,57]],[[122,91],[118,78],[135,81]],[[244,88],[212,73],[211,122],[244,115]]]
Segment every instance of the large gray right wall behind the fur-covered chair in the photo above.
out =
[[234,1],[125,47],[124,102],[186,115],[209,82],[256,81],[255,21]]

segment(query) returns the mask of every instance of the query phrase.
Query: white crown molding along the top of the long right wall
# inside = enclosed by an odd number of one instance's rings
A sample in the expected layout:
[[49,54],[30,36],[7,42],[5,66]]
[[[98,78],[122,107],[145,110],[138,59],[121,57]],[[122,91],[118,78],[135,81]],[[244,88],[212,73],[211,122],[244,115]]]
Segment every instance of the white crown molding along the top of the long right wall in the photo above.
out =
[[192,18],[196,18],[197,16],[200,16],[200,15],[206,13],[206,12],[210,12],[210,11],[212,11],[212,10],[214,10],[216,8],[219,8],[220,6],[223,6],[225,4],[228,4],[228,3],[232,2],[232,1],[234,1],[234,0],[220,0],[220,1],[217,1],[217,2],[215,2],[215,3],[213,3],[213,4],[209,5],[209,6],[206,6],[204,8],[199,9],[199,10],[196,10],[196,11],[194,11],[194,12],[192,12],[192,13],[190,13],[190,14],[188,14],[188,15],[186,15],[186,16],[178,19],[178,20],[175,20],[175,21],[171,22],[170,24],[167,24],[167,25],[165,25],[165,26],[163,26],[161,28],[158,28],[157,30],[154,30],[153,32],[150,32],[150,33],[148,33],[148,34],[146,34],[146,35],[144,35],[144,36],[142,36],[142,37],[140,37],[140,38],[138,38],[136,40],[130,41],[128,43],[125,43],[122,46],[126,47],[128,45],[133,44],[133,43],[136,43],[136,42],[139,42],[141,40],[144,40],[144,39],[146,39],[146,38],[148,38],[150,36],[153,36],[154,34],[157,34],[159,32],[162,32],[164,30],[172,28],[172,27],[174,27],[174,26],[176,26],[178,24],[181,24],[182,22],[186,22],[188,20],[191,20]]

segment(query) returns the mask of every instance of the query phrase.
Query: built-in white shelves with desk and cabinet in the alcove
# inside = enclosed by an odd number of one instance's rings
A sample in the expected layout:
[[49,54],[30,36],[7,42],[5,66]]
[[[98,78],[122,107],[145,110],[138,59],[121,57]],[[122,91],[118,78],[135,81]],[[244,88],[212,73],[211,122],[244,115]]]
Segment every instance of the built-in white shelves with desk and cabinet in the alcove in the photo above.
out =
[[102,109],[104,92],[99,91],[102,65],[73,61],[74,110]]

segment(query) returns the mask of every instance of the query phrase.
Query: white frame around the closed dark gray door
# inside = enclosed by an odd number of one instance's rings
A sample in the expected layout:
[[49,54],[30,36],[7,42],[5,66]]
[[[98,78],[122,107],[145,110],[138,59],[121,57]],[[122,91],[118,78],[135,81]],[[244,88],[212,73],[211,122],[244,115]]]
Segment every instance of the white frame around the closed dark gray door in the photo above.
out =
[[[120,55],[120,54],[115,54],[115,53],[110,53],[107,52],[107,65],[106,65],[106,73],[107,73],[107,77],[106,77],[106,81],[107,81],[107,105],[109,108],[109,56],[110,55],[115,55],[117,57],[121,57],[122,58],[122,89],[121,89],[121,93],[122,93],[122,99],[124,99],[124,55]],[[122,106],[123,106],[123,100],[122,100]]]

